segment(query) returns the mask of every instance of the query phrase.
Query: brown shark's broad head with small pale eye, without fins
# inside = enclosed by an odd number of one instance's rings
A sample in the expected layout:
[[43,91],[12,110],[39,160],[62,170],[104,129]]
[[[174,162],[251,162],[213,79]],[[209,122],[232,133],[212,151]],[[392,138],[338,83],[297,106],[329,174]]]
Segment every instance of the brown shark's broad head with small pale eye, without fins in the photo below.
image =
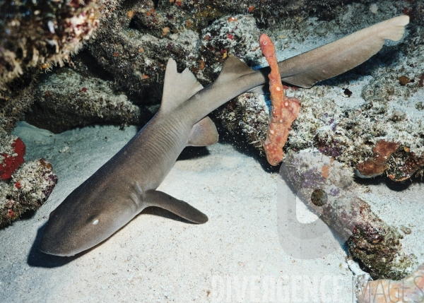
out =
[[[124,197],[90,191],[82,184],[50,213],[40,250],[55,256],[73,256],[103,242],[138,213],[134,203],[124,201]],[[125,207],[112,207],[121,203]]]

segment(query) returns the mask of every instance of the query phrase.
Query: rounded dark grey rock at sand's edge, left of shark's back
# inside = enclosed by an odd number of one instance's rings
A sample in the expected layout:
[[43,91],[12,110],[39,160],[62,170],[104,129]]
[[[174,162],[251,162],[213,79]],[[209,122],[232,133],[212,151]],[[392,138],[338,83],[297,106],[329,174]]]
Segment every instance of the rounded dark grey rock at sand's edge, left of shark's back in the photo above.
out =
[[111,87],[110,81],[57,69],[35,88],[35,103],[25,121],[53,133],[96,122],[139,123],[140,108]]

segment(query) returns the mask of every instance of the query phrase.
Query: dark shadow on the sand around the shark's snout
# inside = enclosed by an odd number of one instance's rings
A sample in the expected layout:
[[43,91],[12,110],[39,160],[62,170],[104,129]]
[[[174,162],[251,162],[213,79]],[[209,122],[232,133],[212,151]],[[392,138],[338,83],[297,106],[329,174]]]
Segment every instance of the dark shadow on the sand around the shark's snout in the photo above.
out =
[[67,263],[73,261],[78,258],[80,255],[76,256],[52,256],[49,254],[45,254],[40,251],[39,246],[41,242],[42,235],[44,234],[47,222],[45,225],[42,225],[37,230],[37,236],[34,239],[33,246],[31,246],[30,252],[28,254],[27,263],[31,267],[43,267],[43,268],[54,268],[64,266]]

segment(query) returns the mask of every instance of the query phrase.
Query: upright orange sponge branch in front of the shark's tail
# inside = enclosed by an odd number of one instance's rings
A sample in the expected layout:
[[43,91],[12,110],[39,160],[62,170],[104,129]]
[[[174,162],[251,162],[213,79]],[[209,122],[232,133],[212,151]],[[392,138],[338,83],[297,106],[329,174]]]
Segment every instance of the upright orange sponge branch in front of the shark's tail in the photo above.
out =
[[297,98],[285,97],[284,95],[283,84],[278,71],[276,50],[271,39],[266,34],[262,34],[259,37],[259,45],[271,68],[271,73],[268,76],[272,105],[271,121],[266,133],[264,150],[269,164],[278,165],[283,160],[283,146],[287,141],[291,124],[298,117],[300,103]]

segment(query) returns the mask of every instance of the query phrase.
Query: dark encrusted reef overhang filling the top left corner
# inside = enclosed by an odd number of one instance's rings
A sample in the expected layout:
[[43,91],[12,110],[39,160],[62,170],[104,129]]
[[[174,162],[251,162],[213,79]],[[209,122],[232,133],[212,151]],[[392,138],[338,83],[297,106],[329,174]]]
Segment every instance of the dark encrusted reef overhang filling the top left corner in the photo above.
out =
[[[109,4],[112,4],[111,1]],[[11,131],[32,102],[39,70],[63,64],[100,23],[103,1],[0,1],[0,126]]]

